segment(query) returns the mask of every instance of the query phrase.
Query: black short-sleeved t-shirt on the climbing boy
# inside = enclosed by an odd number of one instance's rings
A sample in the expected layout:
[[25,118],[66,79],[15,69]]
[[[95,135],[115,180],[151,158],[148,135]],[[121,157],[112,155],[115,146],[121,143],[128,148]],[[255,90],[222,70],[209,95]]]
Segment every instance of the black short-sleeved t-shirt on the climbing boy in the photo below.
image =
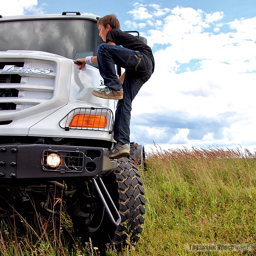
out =
[[113,28],[109,30],[109,32],[107,33],[106,43],[108,43],[108,41],[111,41],[116,45],[122,45],[124,48],[147,54],[147,56],[152,61],[153,71],[154,71],[155,60],[152,54],[152,50],[148,45],[146,45],[138,37],[133,36],[129,33],[123,32],[120,29]]

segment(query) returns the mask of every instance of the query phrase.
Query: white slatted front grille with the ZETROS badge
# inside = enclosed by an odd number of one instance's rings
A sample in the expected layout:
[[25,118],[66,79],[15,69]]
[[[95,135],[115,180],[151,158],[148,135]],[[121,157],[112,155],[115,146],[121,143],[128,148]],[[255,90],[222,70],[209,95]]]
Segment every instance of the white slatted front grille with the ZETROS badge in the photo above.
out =
[[[1,73],[7,65],[30,69],[33,72]],[[55,75],[53,72],[50,75],[34,72],[40,69],[55,70],[55,65],[49,62],[0,62],[0,111],[25,110],[53,97]]]

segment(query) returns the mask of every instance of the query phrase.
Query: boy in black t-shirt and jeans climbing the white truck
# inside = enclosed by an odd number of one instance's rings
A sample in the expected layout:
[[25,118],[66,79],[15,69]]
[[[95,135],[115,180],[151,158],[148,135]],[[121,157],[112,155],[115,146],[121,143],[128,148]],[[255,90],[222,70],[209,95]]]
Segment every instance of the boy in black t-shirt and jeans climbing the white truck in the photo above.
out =
[[[141,86],[154,72],[154,57],[151,48],[139,38],[120,30],[115,15],[106,15],[98,20],[99,35],[106,42],[97,49],[97,56],[76,59],[86,63],[98,62],[104,88],[95,89],[92,94],[104,99],[118,100],[114,122],[115,147],[109,151],[109,158],[117,159],[130,155],[131,103]],[[117,78],[115,64],[126,71]]]

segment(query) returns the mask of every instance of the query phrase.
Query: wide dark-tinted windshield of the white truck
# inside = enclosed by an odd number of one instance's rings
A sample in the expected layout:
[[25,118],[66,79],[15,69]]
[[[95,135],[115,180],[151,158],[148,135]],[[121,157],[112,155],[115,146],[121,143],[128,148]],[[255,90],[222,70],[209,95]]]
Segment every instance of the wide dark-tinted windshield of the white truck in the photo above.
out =
[[37,50],[70,59],[96,55],[103,43],[90,20],[29,20],[0,23],[0,51]]

